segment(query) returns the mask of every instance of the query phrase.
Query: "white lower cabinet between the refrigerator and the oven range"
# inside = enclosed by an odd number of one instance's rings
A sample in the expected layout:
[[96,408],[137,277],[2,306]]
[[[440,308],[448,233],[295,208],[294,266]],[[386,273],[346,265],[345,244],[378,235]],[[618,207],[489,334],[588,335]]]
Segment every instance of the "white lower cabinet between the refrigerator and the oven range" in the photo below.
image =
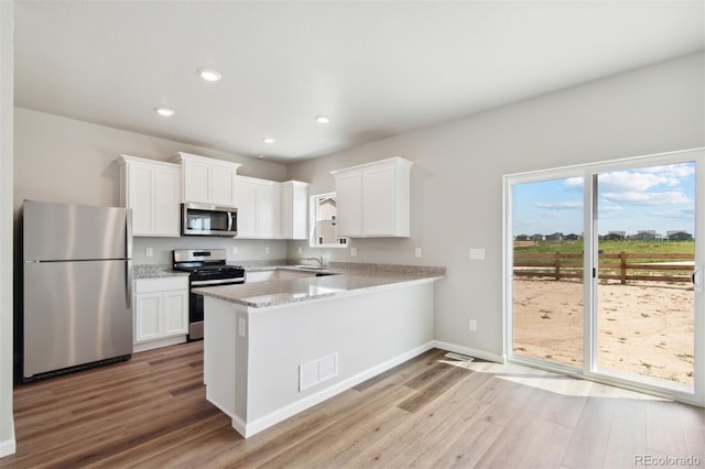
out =
[[134,281],[133,351],[186,341],[188,334],[188,277]]

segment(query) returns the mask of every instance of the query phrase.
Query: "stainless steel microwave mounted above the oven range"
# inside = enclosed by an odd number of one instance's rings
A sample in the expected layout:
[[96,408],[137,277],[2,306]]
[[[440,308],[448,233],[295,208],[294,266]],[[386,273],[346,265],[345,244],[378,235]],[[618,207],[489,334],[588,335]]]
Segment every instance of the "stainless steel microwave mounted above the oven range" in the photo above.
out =
[[238,234],[238,209],[209,204],[182,204],[182,234]]

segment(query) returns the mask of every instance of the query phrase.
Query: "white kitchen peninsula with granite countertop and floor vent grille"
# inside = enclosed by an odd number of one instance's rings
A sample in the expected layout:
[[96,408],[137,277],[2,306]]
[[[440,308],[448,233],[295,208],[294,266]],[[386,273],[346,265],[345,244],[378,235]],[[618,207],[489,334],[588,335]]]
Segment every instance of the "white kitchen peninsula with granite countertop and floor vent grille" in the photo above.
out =
[[209,402],[245,437],[430,349],[444,268],[376,266],[194,290]]

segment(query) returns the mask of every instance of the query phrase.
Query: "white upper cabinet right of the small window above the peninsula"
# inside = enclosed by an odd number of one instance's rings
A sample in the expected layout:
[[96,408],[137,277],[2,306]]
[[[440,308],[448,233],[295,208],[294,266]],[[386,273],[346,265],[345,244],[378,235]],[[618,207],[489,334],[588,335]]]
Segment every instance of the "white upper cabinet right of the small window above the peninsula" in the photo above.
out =
[[332,172],[337,236],[409,237],[412,162],[392,157]]

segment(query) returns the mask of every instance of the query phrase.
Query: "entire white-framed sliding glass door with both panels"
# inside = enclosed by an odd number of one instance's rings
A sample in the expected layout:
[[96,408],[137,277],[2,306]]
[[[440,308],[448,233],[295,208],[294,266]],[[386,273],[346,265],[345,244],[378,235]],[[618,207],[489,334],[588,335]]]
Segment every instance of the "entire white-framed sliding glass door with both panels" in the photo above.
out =
[[705,404],[704,156],[506,176],[510,360]]

